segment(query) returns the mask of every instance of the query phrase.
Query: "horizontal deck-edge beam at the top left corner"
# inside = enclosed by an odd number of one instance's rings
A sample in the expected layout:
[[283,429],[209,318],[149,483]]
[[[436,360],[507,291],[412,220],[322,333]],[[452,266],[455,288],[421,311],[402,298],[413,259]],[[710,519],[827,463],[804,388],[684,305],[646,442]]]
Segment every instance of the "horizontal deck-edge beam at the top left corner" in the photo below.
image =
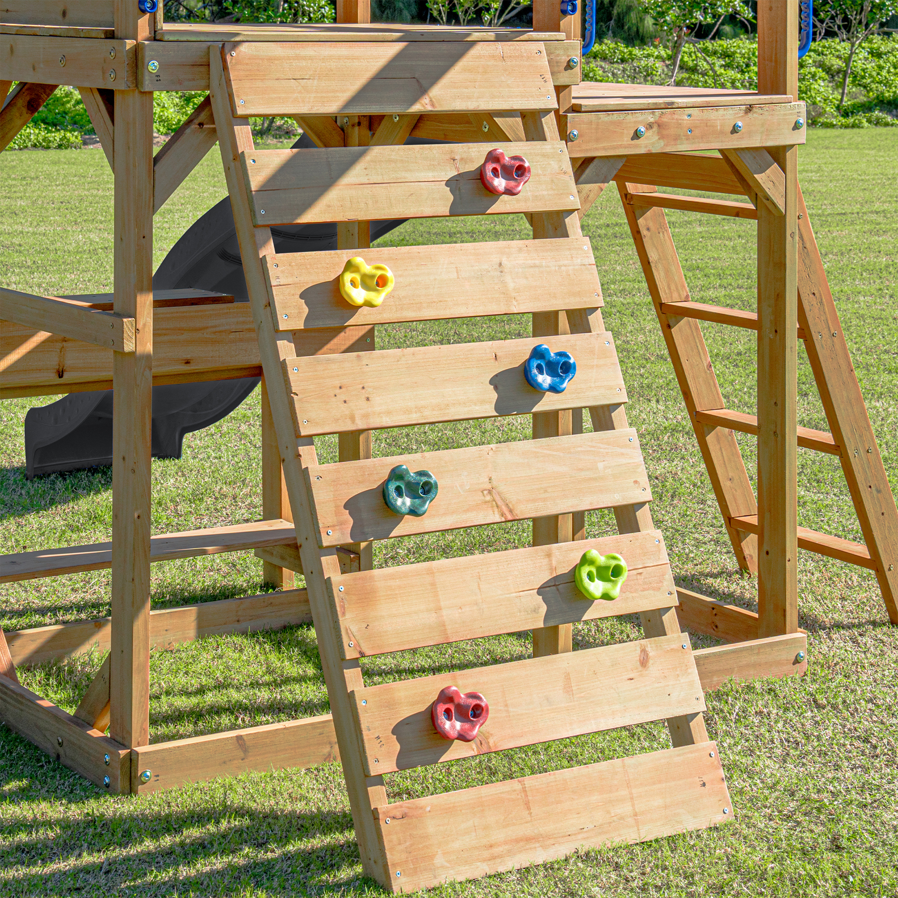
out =
[[[0,78],[52,84],[63,81],[78,87],[114,87],[135,84],[136,50],[133,40],[48,38],[25,34],[4,35]],[[110,51],[115,50],[115,56]],[[59,60],[66,57],[66,65]],[[115,72],[115,77],[111,73]]]

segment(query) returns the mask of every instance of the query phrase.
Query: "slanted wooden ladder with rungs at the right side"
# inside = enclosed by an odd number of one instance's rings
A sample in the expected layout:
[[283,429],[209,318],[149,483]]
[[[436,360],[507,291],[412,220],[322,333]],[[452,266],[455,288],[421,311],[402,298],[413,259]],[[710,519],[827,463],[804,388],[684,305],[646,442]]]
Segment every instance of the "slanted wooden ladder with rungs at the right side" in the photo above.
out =
[[[735,557],[740,568],[757,573],[760,512],[734,431],[757,436],[758,421],[754,415],[726,409],[700,321],[758,330],[758,315],[692,302],[665,217],[665,208],[673,208],[757,219],[759,204],[784,205],[782,173],[779,179],[773,176],[779,169],[766,151],[724,150],[721,156],[671,154],[664,162],[652,164],[652,173],[660,176],[663,180],[658,183],[665,186],[744,193],[750,203],[659,193],[655,183],[629,180],[638,172],[628,174],[628,163],[620,158],[595,163],[603,164],[608,181],[617,181],[649,294]],[[665,169],[667,173],[661,174]],[[590,200],[594,201],[598,192],[593,186]],[[797,445],[839,456],[866,543],[798,527],[798,548],[874,571],[889,620],[898,624],[898,510],[800,187],[797,225],[797,337],[804,341],[830,427],[828,433],[797,427]]]

